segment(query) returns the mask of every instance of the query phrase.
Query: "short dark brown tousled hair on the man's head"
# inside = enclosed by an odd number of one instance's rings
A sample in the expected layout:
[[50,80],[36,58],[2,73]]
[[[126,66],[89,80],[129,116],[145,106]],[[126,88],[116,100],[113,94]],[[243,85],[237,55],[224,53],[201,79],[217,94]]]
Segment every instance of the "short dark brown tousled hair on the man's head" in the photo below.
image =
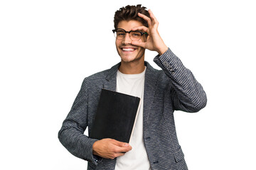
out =
[[142,13],[145,16],[149,16],[149,11],[146,10],[146,7],[141,4],[137,6],[125,6],[120,8],[114,13],[114,28],[117,29],[117,25],[120,21],[139,21],[143,26],[149,27],[148,23],[138,16],[138,13]]

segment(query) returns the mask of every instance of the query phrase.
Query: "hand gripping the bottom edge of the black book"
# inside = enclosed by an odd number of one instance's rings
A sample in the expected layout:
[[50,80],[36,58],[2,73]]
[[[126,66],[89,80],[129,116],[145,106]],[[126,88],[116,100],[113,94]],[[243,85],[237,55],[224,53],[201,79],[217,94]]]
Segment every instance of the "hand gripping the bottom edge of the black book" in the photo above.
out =
[[114,159],[124,155],[125,152],[131,149],[132,147],[128,143],[107,138],[98,140],[92,145],[92,154],[107,159]]

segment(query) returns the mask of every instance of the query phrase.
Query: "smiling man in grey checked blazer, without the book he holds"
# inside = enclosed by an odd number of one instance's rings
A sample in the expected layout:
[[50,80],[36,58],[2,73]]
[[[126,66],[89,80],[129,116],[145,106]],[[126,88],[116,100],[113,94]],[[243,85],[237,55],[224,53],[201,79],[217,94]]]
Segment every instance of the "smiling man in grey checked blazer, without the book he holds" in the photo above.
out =
[[[174,110],[197,112],[206,94],[193,74],[164,44],[153,13],[141,5],[114,15],[116,47],[121,62],[84,79],[58,137],[87,169],[187,169],[176,137]],[[156,70],[144,61],[145,49],[158,52]],[[101,89],[142,99],[129,144],[90,138]],[[83,135],[88,127],[89,137]]]

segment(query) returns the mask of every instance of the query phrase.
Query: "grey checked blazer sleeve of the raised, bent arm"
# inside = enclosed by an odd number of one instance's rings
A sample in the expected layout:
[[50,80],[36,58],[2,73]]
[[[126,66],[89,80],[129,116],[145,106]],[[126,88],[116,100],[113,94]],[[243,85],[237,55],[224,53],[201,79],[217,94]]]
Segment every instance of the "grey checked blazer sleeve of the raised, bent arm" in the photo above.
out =
[[170,79],[174,110],[194,113],[206,106],[207,97],[203,87],[170,49],[161,56],[157,55],[154,62]]

